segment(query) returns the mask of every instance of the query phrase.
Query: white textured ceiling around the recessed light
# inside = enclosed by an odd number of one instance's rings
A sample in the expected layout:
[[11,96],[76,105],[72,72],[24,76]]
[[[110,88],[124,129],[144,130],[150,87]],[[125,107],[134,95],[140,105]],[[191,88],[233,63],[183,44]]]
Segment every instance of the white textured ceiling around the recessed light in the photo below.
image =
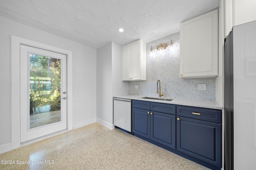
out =
[[218,4],[219,0],[0,0],[0,15],[97,49],[110,41],[148,43],[176,33],[180,22]]

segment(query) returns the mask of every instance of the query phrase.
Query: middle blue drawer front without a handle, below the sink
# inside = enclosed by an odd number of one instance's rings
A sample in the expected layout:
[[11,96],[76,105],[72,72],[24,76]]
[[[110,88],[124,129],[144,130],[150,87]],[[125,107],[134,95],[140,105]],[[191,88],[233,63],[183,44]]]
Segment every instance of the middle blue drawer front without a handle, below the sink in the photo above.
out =
[[167,113],[171,115],[175,115],[176,113],[176,106],[172,104],[163,104],[163,103],[150,103],[150,110],[157,111],[160,113]]

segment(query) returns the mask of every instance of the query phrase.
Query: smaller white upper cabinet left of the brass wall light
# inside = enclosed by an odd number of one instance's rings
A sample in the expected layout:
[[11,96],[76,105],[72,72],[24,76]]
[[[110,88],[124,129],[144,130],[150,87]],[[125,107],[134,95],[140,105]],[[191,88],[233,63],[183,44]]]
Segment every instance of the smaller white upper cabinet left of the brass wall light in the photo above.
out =
[[122,80],[146,80],[146,43],[142,40],[123,46]]

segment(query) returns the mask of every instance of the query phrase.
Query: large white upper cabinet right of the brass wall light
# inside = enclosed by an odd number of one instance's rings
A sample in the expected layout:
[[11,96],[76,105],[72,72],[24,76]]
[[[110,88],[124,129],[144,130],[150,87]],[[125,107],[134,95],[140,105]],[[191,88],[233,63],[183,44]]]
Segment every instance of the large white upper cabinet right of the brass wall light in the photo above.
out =
[[180,23],[180,78],[218,76],[218,9]]

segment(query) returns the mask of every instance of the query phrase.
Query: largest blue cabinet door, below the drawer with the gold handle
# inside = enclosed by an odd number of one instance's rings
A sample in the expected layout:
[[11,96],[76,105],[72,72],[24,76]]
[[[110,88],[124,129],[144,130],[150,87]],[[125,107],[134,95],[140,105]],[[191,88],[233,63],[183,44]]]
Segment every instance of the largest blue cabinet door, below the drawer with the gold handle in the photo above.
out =
[[177,116],[176,149],[221,167],[221,124]]

